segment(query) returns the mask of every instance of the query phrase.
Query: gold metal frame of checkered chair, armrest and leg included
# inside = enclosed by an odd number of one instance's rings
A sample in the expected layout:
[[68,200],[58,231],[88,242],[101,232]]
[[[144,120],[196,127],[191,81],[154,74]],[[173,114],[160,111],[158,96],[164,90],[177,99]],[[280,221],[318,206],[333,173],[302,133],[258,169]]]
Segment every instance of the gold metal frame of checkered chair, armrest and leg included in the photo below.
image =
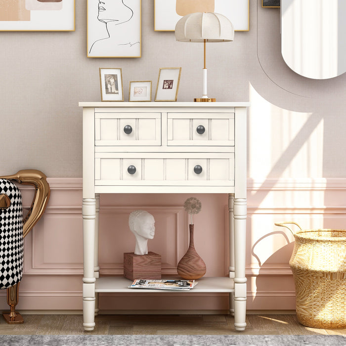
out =
[[[31,231],[37,221],[44,213],[50,196],[49,184],[46,176],[38,170],[22,170],[12,175],[0,176],[1,179],[16,181],[24,185],[34,185],[35,195],[28,214],[23,221],[23,238]],[[0,194],[0,208],[8,208],[8,197]],[[10,306],[10,311],[2,312],[2,316],[9,324],[23,323],[24,319],[20,313],[15,311],[19,297],[19,283],[7,288],[7,304]]]

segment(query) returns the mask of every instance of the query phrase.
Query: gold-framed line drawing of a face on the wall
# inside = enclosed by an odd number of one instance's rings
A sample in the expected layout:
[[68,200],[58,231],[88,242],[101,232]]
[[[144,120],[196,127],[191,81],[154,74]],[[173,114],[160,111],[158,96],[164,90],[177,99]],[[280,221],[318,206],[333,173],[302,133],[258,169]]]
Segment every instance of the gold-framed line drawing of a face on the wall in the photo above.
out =
[[141,56],[141,0],[87,0],[87,57]]

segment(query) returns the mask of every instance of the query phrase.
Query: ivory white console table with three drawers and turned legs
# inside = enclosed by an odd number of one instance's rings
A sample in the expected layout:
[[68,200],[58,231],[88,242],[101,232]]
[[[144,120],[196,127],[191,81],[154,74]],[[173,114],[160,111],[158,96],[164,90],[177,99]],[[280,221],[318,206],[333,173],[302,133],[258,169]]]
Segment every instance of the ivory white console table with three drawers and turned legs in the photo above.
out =
[[[99,277],[100,193],[227,193],[229,277],[203,277],[188,292],[228,292],[235,329],[244,330],[246,118],[250,104],[80,102],[79,105],[83,107],[84,329],[94,329],[99,292],[138,293],[127,288],[130,280],[124,277]],[[165,291],[141,291],[152,292],[165,294]]]

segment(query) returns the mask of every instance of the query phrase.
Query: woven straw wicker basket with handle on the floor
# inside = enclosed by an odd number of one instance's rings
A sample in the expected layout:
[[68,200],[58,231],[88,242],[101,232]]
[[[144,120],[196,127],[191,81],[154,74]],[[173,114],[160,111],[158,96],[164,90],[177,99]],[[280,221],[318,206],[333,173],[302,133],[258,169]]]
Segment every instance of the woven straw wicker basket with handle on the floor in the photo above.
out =
[[[296,233],[286,226],[297,225]],[[346,328],[346,230],[302,230],[275,223],[295,237],[290,259],[298,320],[312,328]]]

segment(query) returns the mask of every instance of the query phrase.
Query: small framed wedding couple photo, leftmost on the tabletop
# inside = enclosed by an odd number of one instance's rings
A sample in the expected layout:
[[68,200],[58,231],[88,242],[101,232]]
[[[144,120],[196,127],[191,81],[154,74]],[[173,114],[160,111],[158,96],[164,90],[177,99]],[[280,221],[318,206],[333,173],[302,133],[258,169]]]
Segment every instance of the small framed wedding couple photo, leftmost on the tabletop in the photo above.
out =
[[102,101],[124,101],[121,69],[100,68]]

